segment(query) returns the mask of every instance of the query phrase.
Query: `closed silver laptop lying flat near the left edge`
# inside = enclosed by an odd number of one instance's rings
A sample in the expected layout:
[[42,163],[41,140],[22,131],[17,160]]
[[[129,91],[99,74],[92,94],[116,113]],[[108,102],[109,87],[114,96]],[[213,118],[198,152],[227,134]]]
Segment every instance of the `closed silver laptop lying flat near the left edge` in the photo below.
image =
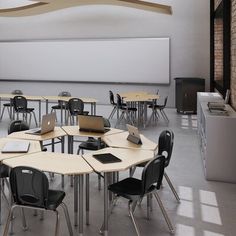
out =
[[10,141],[7,142],[2,153],[26,153],[29,150],[30,142],[28,141]]

